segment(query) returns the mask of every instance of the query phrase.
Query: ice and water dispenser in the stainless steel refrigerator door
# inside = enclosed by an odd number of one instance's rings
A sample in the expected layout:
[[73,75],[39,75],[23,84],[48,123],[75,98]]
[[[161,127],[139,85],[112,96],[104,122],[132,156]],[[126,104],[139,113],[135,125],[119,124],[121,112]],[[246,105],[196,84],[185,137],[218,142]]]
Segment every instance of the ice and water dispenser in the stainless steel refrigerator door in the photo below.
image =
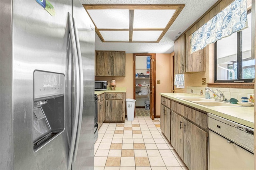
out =
[[64,74],[34,71],[34,151],[64,130]]

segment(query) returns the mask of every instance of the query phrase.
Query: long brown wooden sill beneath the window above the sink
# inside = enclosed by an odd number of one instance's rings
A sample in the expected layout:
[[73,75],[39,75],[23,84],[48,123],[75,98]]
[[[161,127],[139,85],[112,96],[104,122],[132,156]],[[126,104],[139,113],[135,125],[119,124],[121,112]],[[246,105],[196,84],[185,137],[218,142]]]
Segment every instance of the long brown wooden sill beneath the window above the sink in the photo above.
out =
[[254,89],[254,83],[208,83],[208,87]]

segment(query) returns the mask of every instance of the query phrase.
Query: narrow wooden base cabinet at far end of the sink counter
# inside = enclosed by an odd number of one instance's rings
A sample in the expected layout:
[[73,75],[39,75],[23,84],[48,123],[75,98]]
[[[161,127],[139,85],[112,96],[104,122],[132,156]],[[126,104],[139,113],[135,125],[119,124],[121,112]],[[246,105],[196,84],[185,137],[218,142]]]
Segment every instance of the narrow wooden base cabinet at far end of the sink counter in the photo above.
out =
[[170,122],[171,122],[171,108],[170,108],[170,100],[164,97],[161,97],[161,124],[160,129],[166,136],[166,138],[170,141]]

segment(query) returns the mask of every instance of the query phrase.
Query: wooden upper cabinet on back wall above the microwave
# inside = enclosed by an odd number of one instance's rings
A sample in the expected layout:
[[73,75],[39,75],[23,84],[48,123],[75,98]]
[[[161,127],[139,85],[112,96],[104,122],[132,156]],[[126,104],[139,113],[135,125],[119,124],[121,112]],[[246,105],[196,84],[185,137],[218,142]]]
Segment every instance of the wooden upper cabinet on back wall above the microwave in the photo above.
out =
[[95,51],[95,76],[125,76],[125,51]]

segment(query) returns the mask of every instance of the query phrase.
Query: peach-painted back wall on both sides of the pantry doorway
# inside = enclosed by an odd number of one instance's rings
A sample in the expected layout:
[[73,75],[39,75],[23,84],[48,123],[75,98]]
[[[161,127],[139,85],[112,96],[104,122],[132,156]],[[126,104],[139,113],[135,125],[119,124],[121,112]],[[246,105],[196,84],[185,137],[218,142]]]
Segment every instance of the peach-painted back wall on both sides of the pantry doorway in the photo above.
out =
[[[156,80],[161,84],[156,85],[156,116],[160,117],[159,93],[171,93],[172,67],[170,67],[170,54],[156,54]],[[100,77],[95,80],[107,80],[108,87],[112,79],[116,80],[116,87],[126,87],[126,98],[133,99],[133,53],[126,53],[125,77]]]

